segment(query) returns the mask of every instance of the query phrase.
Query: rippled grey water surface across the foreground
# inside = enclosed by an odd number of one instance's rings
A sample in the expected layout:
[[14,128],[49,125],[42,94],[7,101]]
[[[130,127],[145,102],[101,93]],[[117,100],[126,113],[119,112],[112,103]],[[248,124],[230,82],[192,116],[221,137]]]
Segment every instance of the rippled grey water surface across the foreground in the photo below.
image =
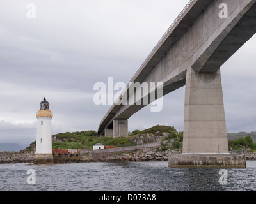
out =
[[[28,170],[36,184],[27,184]],[[74,163],[52,166],[0,164],[0,191],[255,191],[256,161],[246,169],[173,169],[168,162]]]

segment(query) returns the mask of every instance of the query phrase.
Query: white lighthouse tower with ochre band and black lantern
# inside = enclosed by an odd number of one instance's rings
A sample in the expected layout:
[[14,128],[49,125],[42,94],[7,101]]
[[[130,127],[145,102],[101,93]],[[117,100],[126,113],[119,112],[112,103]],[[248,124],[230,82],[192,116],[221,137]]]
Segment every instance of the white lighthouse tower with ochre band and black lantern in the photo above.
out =
[[51,134],[52,117],[51,110],[49,110],[49,102],[44,98],[44,101],[40,103],[40,110],[36,113],[37,133],[34,159],[35,164],[53,163]]

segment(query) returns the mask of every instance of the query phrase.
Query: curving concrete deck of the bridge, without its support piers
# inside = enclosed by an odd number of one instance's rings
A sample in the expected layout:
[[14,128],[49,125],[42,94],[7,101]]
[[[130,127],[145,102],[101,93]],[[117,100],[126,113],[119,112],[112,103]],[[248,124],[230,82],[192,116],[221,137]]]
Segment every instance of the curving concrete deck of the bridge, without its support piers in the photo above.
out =
[[[130,82],[163,82],[164,96],[186,84],[189,67],[198,73],[218,70],[256,33],[256,0],[227,0],[230,7],[227,20],[211,17],[216,15],[220,3],[189,1]],[[129,85],[123,94],[128,90]],[[145,106],[114,104],[100,122],[99,133],[113,120],[129,119]]]

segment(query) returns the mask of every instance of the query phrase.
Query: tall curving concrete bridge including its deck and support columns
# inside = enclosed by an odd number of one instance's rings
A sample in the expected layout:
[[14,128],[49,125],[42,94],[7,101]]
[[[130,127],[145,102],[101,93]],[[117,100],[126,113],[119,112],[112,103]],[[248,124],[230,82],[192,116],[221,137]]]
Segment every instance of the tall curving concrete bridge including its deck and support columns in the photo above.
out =
[[[228,154],[220,67],[255,33],[256,0],[189,1],[132,77],[163,83],[163,96],[186,85],[183,154]],[[127,136],[127,119],[146,106],[136,102],[150,95],[134,99],[131,89],[127,85],[119,98],[125,96],[127,104],[106,113],[100,135]]]

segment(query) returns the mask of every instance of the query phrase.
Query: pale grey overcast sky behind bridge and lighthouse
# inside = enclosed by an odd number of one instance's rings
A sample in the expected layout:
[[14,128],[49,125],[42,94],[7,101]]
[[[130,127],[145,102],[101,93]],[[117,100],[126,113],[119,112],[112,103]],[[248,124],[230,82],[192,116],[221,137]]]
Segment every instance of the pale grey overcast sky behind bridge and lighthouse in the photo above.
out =
[[[34,3],[36,18],[27,18]],[[93,85],[131,80],[188,0],[1,0],[0,143],[36,140],[36,111],[53,103],[52,134],[97,130],[110,106]],[[227,131],[256,131],[256,36],[221,67]],[[183,130],[184,87],[146,107],[129,131],[156,124]]]

